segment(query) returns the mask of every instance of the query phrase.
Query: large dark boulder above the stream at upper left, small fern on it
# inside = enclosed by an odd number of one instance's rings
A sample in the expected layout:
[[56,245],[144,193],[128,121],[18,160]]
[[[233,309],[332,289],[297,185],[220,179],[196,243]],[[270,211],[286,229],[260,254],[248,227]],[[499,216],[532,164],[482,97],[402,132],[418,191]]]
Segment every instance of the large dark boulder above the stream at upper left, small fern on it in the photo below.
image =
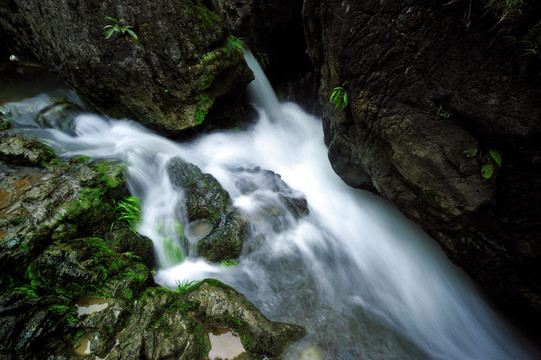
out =
[[[106,25],[124,19],[137,40]],[[200,124],[253,75],[227,25],[193,1],[10,1],[0,28],[21,61],[62,77],[91,105],[161,131]]]

